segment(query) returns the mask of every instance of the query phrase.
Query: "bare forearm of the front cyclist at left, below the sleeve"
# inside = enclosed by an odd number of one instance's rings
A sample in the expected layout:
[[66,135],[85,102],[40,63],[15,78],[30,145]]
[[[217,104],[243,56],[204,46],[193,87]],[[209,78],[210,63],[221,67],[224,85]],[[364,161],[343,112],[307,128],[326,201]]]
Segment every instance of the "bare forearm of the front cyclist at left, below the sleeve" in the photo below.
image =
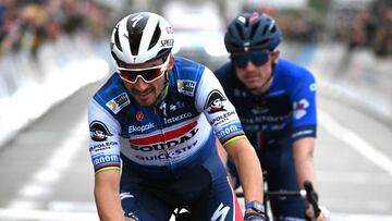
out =
[[101,221],[125,220],[120,200],[120,171],[107,170],[95,175],[94,196]]

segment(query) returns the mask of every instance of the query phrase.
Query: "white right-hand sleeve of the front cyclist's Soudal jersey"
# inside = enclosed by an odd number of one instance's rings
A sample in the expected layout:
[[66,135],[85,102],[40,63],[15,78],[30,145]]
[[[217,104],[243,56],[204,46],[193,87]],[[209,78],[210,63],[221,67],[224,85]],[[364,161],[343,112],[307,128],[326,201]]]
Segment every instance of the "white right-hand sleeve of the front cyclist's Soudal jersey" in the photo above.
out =
[[222,86],[209,69],[205,69],[196,90],[196,109],[204,112],[213,133],[223,147],[245,138],[234,106],[226,98]]

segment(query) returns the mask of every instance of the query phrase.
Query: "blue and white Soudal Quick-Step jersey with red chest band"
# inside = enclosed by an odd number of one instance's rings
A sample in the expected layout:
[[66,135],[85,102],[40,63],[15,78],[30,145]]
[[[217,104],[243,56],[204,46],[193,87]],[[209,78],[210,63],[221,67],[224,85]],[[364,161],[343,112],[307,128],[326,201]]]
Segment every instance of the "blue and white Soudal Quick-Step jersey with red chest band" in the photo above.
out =
[[119,169],[120,158],[140,175],[179,176],[223,145],[245,137],[234,107],[213,73],[175,58],[167,96],[137,106],[114,73],[89,105],[90,154],[95,171]]

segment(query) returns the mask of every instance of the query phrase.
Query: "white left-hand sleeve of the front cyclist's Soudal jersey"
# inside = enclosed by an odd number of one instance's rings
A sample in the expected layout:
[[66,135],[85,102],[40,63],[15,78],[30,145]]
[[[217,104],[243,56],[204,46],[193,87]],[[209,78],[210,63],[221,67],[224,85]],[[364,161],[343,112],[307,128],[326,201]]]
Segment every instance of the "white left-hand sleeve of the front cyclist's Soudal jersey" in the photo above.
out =
[[95,99],[88,106],[89,152],[95,173],[120,170],[120,125]]

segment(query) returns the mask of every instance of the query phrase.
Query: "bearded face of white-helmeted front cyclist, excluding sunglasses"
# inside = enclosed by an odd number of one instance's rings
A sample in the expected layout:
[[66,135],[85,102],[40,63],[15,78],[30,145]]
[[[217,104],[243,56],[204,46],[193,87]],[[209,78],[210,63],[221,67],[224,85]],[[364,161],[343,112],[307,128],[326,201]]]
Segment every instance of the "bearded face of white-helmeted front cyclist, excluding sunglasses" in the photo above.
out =
[[[163,63],[163,59],[149,61],[143,64],[127,65],[127,69],[146,69],[150,66],[157,66]],[[142,77],[137,77],[135,83],[123,81],[125,87],[130,90],[131,95],[140,106],[152,106],[156,103],[157,98],[164,88],[166,74],[154,79],[150,83],[146,83]]]

